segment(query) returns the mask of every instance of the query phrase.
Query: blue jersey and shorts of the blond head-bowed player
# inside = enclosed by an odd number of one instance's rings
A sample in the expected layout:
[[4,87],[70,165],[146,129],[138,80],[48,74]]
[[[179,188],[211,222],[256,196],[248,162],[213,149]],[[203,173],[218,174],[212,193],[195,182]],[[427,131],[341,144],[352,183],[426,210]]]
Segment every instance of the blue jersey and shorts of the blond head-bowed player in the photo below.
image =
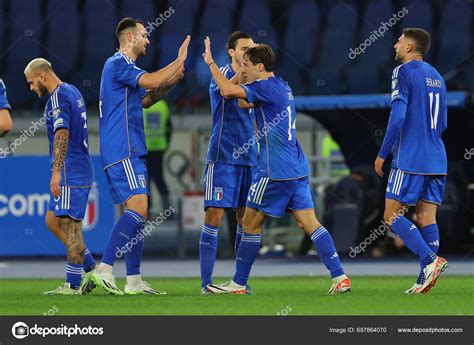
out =
[[51,168],[54,162],[54,135],[58,129],[69,130],[67,155],[61,168],[61,195],[58,198],[50,196],[48,209],[57,217],[69,216],[82,220],[93,180],[84,98],[75,86],[62,83],[51,93],[44,117]]

